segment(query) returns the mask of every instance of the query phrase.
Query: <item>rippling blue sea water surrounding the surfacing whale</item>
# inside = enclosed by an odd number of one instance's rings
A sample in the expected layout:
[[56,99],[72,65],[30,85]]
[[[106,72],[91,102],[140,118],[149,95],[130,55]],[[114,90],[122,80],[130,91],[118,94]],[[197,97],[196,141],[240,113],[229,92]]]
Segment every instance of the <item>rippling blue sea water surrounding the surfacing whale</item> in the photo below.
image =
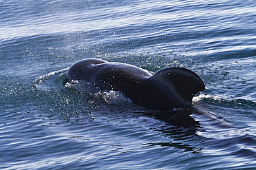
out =
[[[0,169],[255,169],[255,1],[0,1]],[[76,61],[187,67],[161,113],[62,85]]]

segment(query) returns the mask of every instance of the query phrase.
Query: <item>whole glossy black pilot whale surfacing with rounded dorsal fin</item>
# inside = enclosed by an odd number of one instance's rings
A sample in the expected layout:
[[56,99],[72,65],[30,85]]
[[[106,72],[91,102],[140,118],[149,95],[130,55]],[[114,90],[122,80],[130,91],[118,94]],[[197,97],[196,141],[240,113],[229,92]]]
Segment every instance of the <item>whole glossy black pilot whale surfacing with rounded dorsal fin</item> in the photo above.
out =
[[202,79],[183,67],[151,74],[134,65],[101,59],[77,61],[66,72],[66,79],[120,91],[136,105],[162,111],[190,106],[194,95],[205,89]]

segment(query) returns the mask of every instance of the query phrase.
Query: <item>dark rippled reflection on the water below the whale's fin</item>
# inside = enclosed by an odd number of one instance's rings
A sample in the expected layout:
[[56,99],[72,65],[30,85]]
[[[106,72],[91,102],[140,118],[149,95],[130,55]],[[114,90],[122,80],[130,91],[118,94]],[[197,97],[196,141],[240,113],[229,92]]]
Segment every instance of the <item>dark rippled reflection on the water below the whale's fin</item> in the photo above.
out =
[[202,153],[203,147],[199,147],[200,145],[198,144],[205,138],[199,136],[196,131],[204,130],[200,123],[192,118],[192,114],[201,113],[194,107],[186,107],[175,111],[149,111],[145,113],[146,116],[163,121],[165,125],[158,127],[156,131],[170,138],[170,142],[155,142],[145,145],[147,145],[147,147],[154,145],[174,147],[181,149],[181,152],[190,151],[193,154]]

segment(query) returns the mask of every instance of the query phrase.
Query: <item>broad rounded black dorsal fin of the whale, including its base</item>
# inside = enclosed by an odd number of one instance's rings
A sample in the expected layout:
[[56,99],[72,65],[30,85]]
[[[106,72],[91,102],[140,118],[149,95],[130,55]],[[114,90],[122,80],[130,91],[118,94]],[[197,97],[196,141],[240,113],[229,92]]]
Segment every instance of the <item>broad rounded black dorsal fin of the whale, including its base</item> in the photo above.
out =
[[149,78],[147,105],[152,109],[173,109],[191,105],[193,96],[202,91],[202,79],[183,67],[169,67],[159,70]]

